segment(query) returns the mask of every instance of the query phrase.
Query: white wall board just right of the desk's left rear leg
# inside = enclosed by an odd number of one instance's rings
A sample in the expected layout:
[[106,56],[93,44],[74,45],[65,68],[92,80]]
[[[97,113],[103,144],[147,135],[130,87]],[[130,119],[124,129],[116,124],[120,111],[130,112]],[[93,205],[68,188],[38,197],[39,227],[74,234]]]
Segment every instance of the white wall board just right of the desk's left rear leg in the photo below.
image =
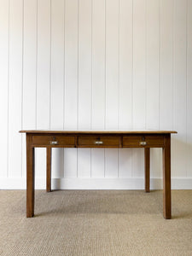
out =
[[[51,1],[50,129],[64,122],[64,1]],[[52,150],[52,177],[63,177],[63,148]]]

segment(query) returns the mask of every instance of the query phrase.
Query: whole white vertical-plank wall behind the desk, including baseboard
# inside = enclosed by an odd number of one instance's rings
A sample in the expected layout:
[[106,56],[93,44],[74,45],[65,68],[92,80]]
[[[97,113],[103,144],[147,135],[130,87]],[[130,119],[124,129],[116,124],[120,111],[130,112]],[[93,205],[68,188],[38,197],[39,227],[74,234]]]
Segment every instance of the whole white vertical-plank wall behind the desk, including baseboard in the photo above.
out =
[[[21,129],[177,130],[172,188],[192,189],[192,1],[0,0],[0,117],[2,189],[26,187]],[[151,156],[159,189],[161,150]],[[52,177],[57,189],[143,189],[143,150],[56,148]]]

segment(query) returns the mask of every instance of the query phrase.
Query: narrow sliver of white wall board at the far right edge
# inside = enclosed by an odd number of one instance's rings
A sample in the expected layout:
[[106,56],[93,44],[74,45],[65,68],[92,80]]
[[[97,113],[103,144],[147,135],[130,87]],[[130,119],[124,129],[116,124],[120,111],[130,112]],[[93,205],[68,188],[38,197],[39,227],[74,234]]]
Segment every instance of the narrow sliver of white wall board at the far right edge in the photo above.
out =
[[187,2],[187,177],[192,177],[192,1]]

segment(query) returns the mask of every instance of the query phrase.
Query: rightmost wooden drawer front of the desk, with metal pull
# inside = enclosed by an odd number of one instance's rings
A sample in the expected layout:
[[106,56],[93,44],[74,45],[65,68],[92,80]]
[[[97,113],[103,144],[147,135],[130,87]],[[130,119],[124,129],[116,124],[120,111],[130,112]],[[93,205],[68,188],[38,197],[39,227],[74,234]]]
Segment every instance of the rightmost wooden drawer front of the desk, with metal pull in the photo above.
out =
[[123,137],[124,148],[162,148],[163,146],[163,136]]

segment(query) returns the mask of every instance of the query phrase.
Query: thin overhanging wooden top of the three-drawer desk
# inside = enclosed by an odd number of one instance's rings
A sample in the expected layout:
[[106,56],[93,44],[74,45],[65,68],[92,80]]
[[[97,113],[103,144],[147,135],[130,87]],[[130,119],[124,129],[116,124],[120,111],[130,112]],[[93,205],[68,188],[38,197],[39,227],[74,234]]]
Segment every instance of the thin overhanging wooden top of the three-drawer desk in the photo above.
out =
[[160,130],[22,130],[22,133],[54,133],[54,134],[167,134],[177,133],[177,131],[160,131]]

